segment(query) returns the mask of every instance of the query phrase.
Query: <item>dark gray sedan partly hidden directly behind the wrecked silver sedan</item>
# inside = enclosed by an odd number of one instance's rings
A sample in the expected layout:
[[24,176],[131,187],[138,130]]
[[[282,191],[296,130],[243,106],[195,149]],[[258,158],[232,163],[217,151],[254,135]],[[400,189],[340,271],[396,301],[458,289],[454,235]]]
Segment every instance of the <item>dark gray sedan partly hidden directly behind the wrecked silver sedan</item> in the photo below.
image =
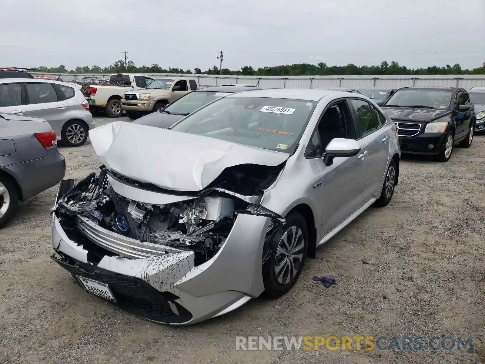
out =
[[160,112],[154,112],[133,121],[133,124],[154,126],[157,128],[168,128],[174,125],[184,116],[189,115],[198,108],[207,105],[215,99],[242,91],[259,90],[257,87],[247,86],[214,86],[199,88],[180,99],[168,104]]

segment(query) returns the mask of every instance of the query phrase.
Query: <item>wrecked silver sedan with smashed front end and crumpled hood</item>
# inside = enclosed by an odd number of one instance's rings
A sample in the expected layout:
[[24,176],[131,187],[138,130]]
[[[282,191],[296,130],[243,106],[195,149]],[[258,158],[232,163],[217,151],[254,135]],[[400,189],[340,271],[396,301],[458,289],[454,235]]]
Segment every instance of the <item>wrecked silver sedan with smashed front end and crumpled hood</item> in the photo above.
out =
[[344,92],[233,94],[170,130],[113,122],[90,138],[103,165],[61,182],[52,259],[166,324],[284,295],[307,256],[398,182],[394,123]]

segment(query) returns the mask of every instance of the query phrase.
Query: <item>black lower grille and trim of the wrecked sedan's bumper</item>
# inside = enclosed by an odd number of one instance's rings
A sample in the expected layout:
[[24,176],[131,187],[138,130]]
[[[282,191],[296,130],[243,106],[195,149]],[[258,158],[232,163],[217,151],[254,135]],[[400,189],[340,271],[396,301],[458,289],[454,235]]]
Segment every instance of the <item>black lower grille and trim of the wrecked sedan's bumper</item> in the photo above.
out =
[[[174,302],[175,299],[178,299],[177,296],[170,292],[159,292],[145,281],[112,273],[93,265],[84,265],[74,260],[73,262],[68,261],[71,258],[59,259],[55,256],[51,258],[72,273],[74,277],[81,276],[108,284],[116,298],[115,304],[132,314],[166,323],[181,323],[192,319],[190,312]],[[177,307],[178,315],[170,307],[169,301]]]

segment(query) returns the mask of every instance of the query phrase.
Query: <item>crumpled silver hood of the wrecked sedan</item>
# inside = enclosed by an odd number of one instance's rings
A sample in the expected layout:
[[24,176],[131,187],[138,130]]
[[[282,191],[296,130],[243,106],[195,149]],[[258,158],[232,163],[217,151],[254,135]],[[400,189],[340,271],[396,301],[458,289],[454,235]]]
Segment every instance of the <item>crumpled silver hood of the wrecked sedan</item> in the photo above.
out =
[[226,167],[275,166],[290,157],[288,153],[123,121],[92,129],[89,137],[110,170],[178,191],[200,191]]

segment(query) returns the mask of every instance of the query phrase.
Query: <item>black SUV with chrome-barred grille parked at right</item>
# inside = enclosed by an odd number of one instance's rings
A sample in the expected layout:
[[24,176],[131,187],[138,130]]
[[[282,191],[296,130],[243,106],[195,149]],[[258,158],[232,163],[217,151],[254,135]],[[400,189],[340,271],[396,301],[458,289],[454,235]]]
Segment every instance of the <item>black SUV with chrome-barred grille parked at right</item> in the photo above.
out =
[[403,153],[448,162],[453,145],[469,148],[475,107],[461,87],[403,87],[380,105],[398,127]]

